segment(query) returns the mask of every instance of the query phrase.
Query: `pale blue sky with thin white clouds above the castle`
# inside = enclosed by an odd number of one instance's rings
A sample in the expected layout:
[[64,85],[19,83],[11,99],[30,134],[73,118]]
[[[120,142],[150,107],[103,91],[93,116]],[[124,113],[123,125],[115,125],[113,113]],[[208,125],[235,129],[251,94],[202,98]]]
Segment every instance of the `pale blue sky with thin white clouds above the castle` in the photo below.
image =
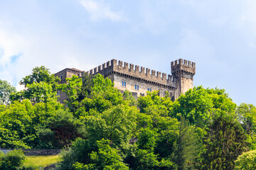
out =
[[196,62],[194,86],[256,104],[255,0],[0,0],[0,79],[19,90],[34,67],[88,71],[112,59],[171,74]]

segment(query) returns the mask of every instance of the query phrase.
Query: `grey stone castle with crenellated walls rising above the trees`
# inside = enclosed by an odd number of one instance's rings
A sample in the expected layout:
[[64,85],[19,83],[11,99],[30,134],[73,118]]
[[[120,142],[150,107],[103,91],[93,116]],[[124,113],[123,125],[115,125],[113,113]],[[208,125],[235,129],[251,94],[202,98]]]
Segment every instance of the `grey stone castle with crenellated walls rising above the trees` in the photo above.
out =
[[[146,72],[145,72],[146,70]],[[56,73],[60,78],[60,83],[65,83],[65,78],[73,75],[82,77],[84,71],[79,69],[66,68]],[[128,64],[117,60],[111,60],[94,69],[90,69],[87,74],[102,74],[114,83],[114,87],[121,92],[128,90],[134,97],[145,96],[146,91],[159,91],[159,96],[165,96],[169,92],[171,100],[174,101],[178,96],[184,94],[188,89],[193,88],[193,76],[196,74],[196,63],[179,59],[171,62],[171,74],[156,72],[145,67]],[[58,91],[60,102],[65,99],[65,94]]]

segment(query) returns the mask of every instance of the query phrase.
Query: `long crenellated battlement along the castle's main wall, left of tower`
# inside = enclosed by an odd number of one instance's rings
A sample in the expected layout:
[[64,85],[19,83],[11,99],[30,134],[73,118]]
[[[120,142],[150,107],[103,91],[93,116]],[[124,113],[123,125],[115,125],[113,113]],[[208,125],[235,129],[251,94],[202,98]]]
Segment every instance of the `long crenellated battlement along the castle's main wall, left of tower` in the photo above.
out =
[[127,74],[129,77],[137,77],[139,79],[145,79],[147,81],[154,81],[159,84],[169,84],[171,85],[174,81],[173,77],[166,73],[156,72],[154,69],[149,69],[145,67],[140,67],[138,65],[129,64],[128,62],[111,60],[106,62],[94,69],[90,69],[88,74],[102,74],[107,75],[111,72],[117,72],[119,74]]

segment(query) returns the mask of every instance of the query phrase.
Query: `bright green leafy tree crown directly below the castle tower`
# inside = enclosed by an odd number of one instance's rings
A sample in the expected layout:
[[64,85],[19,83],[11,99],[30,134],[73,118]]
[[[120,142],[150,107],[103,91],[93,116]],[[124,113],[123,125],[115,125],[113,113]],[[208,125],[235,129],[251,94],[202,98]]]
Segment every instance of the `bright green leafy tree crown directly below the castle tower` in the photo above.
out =
[[228,98],[224,90],[203,89],[202,86],[189,89],[174,102],[171,116],[184,116],[190,123],[204,128],[210,123],[211,113],[222,110],[228,113],[235,111],[236,104]]

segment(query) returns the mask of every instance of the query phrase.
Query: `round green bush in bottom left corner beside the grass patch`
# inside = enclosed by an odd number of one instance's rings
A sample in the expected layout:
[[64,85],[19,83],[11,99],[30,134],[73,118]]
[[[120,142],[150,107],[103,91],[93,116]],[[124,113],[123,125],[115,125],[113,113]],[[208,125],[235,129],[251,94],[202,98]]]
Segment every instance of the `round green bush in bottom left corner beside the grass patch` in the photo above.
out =
[[14,149],[7,154],[0,152],[0,169],[2,170],[16,170],[19,169],[25,155],[21,150]]

